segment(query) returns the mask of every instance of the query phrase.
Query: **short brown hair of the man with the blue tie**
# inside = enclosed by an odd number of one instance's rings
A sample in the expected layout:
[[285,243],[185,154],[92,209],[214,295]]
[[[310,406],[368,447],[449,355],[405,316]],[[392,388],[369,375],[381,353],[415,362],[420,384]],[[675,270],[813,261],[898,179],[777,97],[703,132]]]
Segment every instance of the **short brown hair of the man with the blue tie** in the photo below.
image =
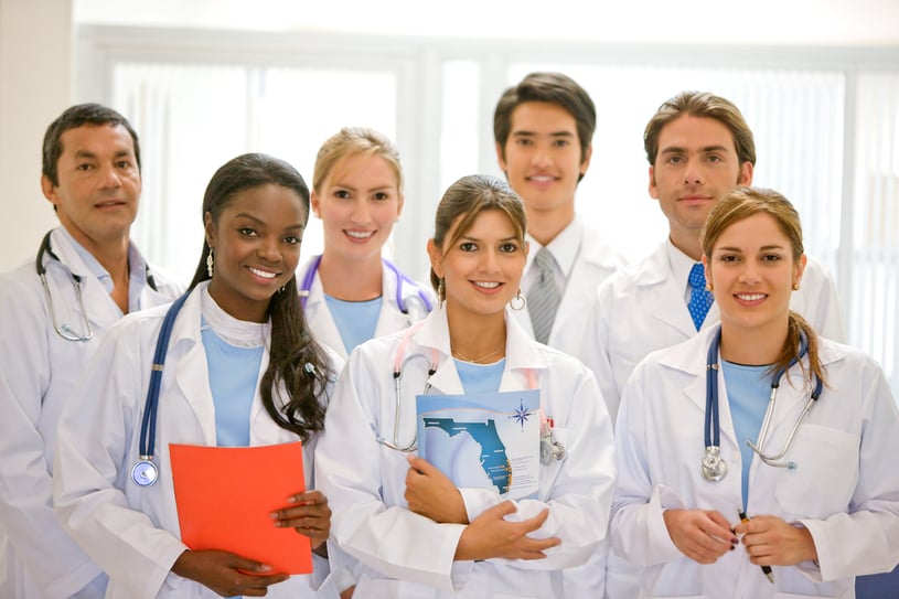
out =
[[756,141],[752,130],[732,101],[708,92],[681,92],[659,107],[643,130],[643,149],[646,150],[646,160],[650,161],[650,165],[655,165],[655,158],[659,156],[659,136],[662,129],[682,115],[714,118],[727,127],[734,137],[734,146],[737,149],[740,164],[745,162],[756,164]]

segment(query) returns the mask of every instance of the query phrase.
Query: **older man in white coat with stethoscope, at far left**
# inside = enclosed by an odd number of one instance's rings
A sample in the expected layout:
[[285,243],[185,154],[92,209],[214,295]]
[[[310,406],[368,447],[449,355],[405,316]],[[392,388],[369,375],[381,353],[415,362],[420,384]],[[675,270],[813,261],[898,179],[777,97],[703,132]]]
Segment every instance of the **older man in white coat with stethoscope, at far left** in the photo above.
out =
[[[130,242],[139,158],[125,117],[96,104],[66,109],[47,128],[41,178],[61,226],[40,244],[40,258],[0,276],[4,599],[103,596],[105,576],[53,514],[51,477],[60,413],[108,329],[124,313],[171,301],[183,289],[149,268]],[[39,254],[38,240],[33,250]]]

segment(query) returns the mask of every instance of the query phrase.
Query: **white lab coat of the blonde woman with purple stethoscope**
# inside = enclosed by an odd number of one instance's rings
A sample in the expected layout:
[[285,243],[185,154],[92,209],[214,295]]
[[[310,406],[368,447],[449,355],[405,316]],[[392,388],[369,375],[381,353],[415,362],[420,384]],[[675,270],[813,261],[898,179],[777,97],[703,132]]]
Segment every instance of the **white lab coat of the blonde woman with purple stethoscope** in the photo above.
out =
[[[312,261],[315,259],[317,257],[312,258],[298,270],[298,286],[302,285]],[[402,331],[428,315],[428,307],[418,295],[419,291],[425,293],[431,307],[437,306],[437,297],[430,288],[417,284],[413,285],[408,281],[403,281],[400,285],[396,274],[392,269],[387,268],[386,265],[382,265],[382,268],[384,269],[382,276],[383,301],[381,303],[381,315],[377,319],[377,325],[375,328],[375,336],[384,336],[396,331]],[[400,297],[406,304],[408,313],[403,313],[397,304],[397,285],[400,285]],[[343,339],[340,336],[338,325],[331,317],[331,310],[328,309],[328,303],[324,300],[324,288],[321,285],[318,272],[315,272],[312,279],[312,286],[309,288],[304,313],[309,329],[315,339],[320,343],[324,343],[334,350],[343,360],[346,360],[346,347],[343,344]]]

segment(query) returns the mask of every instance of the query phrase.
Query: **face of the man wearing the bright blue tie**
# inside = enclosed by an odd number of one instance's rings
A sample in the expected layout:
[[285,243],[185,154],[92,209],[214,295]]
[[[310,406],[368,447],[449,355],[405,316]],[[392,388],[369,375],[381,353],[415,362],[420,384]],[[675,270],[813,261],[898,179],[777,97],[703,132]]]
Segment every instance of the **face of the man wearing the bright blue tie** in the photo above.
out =
[[671,239],[682,250],[696,245],[718,200],[751,182],[752,164],[740,164],[734,136],[720,121],[683,115],[660,131],[650,195],[659,200]]

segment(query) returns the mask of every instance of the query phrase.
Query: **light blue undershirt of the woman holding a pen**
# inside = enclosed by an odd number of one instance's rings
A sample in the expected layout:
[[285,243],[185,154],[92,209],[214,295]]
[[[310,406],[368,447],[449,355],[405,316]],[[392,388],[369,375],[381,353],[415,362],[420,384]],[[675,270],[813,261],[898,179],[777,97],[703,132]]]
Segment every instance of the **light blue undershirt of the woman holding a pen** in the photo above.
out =
[[746,511],[749,498],[749,467],[754,458],[754,451],[746,441],[756,442],[756,439],[759,438],[761,422],[768,408],[768,396],[771,392],[771,377],[768,374],[770,366],[745,366],[723,360],[721,368],[727,386],[730,417],[734,420],[734,430],[740,446],[742,500],[743,511]]

